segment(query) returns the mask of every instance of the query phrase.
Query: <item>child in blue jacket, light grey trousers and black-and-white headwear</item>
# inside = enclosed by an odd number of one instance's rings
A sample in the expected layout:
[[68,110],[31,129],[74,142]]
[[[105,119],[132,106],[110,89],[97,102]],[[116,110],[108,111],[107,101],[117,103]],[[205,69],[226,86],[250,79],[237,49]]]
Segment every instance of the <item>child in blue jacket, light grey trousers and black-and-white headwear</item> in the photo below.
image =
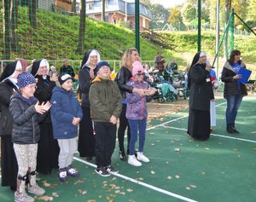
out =
[[60,147],[58,176],[61,182],[66,182],[67,176],[79,176],[79,172],[72,167],[72,159],[78,149],[76,137],[83,113],[77,95],[73,92],[73,78],[62,73],[58,80],[61,87],[55,86],[53,89],[50,113],[54,138]]

